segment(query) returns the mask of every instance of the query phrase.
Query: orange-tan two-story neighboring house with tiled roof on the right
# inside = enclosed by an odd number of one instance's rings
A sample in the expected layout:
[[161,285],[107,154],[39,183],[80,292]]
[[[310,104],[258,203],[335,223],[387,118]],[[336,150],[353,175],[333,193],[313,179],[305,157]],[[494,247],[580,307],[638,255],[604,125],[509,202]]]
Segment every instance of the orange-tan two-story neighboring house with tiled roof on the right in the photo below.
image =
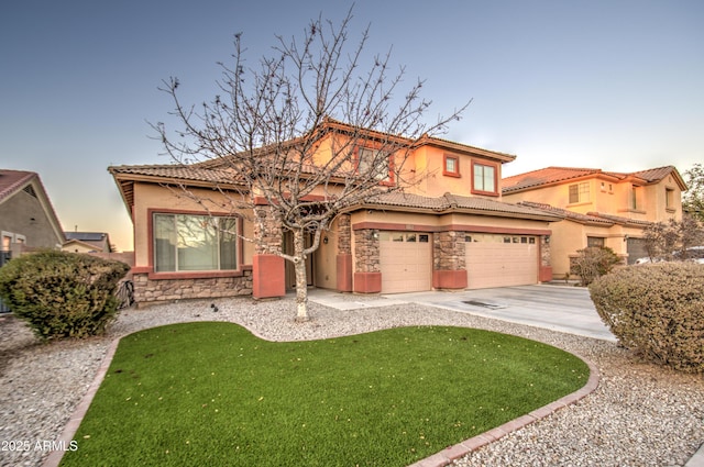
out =
[[551,225],[552,271],[564,277],[578,251],[607,246],[634,264],[647,256],[644,229],[682,219],[686,186],[672,166],[629,174],[548,167],[503,180],[503,199],[563,218]]

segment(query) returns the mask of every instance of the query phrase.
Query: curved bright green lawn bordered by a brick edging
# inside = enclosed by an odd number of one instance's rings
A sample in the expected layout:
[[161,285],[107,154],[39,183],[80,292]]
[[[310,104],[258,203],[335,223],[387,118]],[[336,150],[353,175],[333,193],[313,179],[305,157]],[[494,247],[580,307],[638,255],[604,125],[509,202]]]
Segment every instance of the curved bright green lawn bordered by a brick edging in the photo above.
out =
[[464,327],[276,343],[162,326],[122,338],[62,466],[406,466],[587,378],[563,351]]

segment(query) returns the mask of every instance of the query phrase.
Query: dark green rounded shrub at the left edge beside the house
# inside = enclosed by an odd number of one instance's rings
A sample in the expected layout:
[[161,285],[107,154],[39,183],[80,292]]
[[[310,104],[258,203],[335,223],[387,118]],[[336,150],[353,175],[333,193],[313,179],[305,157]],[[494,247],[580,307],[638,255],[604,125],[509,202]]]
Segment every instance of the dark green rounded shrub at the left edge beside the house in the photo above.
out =
[[29,254],[0,268],[0,296],[42,340],[88,337],[117,314],[114,291],[129,269],[90,255]]

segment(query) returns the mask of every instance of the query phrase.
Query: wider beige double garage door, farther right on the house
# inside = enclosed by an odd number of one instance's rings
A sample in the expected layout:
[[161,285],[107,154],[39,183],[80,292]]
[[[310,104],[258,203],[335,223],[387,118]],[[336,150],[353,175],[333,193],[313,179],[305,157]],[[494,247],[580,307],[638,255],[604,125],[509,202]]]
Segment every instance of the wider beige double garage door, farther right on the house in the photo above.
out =
[[465,241],[468,288],[538,282],[538,241],[535,236],[470,234]]

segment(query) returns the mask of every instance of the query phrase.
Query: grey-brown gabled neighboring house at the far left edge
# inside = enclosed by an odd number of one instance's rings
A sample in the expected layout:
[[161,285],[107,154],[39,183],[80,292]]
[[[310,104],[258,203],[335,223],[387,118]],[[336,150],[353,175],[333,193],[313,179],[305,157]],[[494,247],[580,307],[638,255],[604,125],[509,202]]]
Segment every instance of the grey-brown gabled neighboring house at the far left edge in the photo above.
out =
[[12,256],[37,248],[61,249],[64,230],[37,174],[0,169],[0,249]]

